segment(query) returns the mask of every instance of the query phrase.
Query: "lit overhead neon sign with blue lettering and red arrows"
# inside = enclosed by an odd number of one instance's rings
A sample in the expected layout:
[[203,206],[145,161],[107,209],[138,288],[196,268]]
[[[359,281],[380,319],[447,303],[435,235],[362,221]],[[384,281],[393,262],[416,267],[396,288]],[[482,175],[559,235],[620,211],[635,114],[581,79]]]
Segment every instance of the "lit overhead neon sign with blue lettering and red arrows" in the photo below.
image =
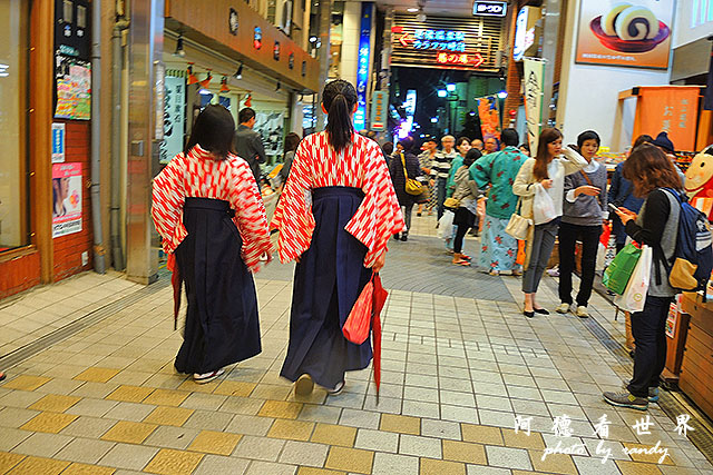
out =
[[[488,2],[498,3],[498,2]],[[502,18],[394,16],[391,65],[496,71]]]

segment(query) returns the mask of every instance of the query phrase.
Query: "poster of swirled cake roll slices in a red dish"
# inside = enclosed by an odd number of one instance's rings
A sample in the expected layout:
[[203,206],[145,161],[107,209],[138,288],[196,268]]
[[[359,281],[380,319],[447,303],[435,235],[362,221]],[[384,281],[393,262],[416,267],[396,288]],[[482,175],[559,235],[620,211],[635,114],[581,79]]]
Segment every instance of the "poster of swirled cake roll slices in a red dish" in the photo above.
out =
[[666,69],[673,1],[582,0],[576,62]]

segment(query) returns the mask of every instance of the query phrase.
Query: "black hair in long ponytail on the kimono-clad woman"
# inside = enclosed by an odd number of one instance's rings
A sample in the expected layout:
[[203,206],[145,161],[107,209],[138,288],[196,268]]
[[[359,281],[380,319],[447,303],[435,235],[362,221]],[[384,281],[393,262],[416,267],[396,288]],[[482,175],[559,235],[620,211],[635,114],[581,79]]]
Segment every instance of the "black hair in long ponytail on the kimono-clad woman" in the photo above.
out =
[[352,141],[354,126],[352,110],[356,103],[356,90],[343,79],[328,83],[322,92],[322,103],[326,109],[326,135],[334,150],[342,151]]

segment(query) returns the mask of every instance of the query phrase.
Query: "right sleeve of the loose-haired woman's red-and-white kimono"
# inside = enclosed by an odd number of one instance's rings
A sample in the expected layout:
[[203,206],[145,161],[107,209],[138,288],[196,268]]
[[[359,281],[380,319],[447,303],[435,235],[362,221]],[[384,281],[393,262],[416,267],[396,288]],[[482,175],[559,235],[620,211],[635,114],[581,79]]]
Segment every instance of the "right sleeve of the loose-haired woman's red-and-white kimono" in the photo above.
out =
[[243,238],[245,265],[255,273],[260,268],[260,256],[268,253],[271,247],[267,217],[250,166],[240,158],[235,162],[231,188],[231,205],[235,209],[233,221]]

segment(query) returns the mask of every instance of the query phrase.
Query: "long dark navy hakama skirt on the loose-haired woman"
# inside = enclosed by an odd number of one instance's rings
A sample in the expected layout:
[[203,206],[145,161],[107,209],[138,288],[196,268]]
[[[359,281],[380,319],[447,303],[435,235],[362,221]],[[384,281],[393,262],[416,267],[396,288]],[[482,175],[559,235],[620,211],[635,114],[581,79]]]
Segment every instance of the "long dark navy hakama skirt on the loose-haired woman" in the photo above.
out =
[[188,300],[179,373],[209,373],[262,350],[255,283],[241,257],[234,215],[227,201],[186,198],[188,236],[176,248]]

